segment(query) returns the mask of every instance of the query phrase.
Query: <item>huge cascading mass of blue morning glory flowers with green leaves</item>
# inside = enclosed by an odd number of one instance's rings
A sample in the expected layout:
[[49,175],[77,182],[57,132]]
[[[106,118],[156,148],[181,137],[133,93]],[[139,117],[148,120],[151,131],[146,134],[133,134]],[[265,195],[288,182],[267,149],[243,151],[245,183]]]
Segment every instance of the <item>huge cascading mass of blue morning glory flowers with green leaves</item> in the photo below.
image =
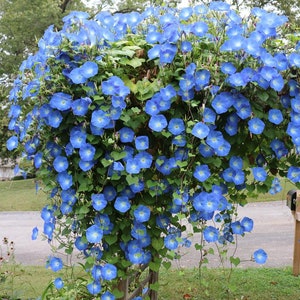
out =
[[[147,264],[157,250],[153,237],[172,251],[190,246],[178,213],[192,224],[225,223],[201,227],[208,243],[250,232],[251,219],[230,215],[230,193],[246,190],[247,168],[264,183],[270,161],[299,154],[300,89],[295,80],[285,84],[300,66],[299,49],[266,47],[286,17],[255,8],[251,18],[255,26],[221,1],[94,19],[73,12],[61,31],[47,29],[39,51],[21,65],[9,96],[15,135],[7,148],[21,147],[46,174],[56,199],[41,213],[48,240],[61,216],[73,219],[75,247],[95,258],[91,294],[114,297],[102,290],[103,281],[117,278],[117,267],[105,262],[111,249]],[[134,35],[143,41],[136,47],[126,42]],[[132,58],[134,67],[126,65]],[[287,138],[270,135],[277,129]],[[289,166],[286,175],[299,182],[300,167]],[[280,190],[275,177],[270,193]],[[37,234],[35,228],[33,239]],[[119,250],[107,241],[112,236]],[[263,250],[253,257],[266,260]],[[62,261],[51,257],[48,265],[58,271]],[[61,278],[55,286],[63,288]]]

